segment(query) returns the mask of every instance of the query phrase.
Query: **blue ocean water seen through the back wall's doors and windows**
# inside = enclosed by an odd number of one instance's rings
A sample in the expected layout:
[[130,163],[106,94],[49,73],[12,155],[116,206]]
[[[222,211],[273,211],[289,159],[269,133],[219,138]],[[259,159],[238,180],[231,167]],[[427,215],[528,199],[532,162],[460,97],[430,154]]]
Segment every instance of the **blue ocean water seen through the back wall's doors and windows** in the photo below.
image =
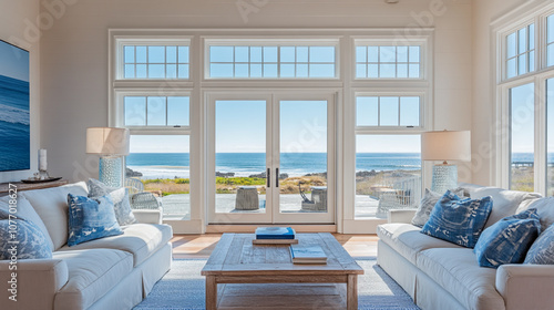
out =
[[[189,177],[189,154],[133,153],[126,157],[127,167],[143,174],[143,178]],[[356,170],[417,170],[421,157],[417,153],[361,153],[356,155]],[[216,172],[249,176],[266,170],[264,153],[218,153]],[[280,173],[302,176],[327,172],[325,153],[284,153]]]

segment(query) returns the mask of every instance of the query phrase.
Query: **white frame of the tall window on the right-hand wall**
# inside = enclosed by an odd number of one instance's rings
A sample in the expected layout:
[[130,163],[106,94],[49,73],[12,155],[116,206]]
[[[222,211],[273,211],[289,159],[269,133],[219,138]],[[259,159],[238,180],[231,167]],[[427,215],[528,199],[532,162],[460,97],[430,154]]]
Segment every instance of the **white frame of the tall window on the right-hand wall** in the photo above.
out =
[[[491,24],[494,38],[494,101],[497,128],[492,136],[497,158],[491,167],[496,186],[510,188],[511,178],[511,111],[510,90],[534,83],[534,190],[546,195],[546,80],[554,78],[554,65],[546,65],[546,18],[554,14],[554,3],[526,2]],[[507,79],[507,35],[535,24],[535,71]]]

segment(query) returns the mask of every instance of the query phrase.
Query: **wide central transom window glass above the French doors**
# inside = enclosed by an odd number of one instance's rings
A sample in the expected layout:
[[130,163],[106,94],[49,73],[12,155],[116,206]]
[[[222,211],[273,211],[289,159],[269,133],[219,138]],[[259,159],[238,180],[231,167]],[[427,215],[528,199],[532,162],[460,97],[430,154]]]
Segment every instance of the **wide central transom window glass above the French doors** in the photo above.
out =
[[329,79],[337,76],[335,45],[209,45],[212,79]]

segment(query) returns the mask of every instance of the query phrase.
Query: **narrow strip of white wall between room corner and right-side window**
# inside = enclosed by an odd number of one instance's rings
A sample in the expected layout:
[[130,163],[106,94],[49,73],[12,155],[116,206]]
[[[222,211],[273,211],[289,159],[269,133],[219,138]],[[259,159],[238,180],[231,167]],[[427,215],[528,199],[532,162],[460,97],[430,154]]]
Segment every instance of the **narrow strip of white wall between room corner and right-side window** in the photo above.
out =
[[[543,1],[544,0],[540,0]],[[540,2],[535,1],[535,2]],[[492,58],[493,38],[491,22],[506,12],[517,8],[527,0],[473,0],[473,183],[480,185],[495,184],[495,115],[494,92],[495,72]]]

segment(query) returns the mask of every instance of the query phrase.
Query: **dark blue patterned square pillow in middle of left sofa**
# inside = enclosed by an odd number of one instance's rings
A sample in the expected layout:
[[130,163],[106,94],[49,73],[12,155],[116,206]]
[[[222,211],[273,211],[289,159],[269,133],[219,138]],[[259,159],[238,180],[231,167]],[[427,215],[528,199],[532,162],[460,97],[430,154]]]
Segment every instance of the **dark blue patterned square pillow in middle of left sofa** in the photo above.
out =
[[113,202],[109,196],[91,199],[68,194],[68,246],[123,234],[115,219]]

